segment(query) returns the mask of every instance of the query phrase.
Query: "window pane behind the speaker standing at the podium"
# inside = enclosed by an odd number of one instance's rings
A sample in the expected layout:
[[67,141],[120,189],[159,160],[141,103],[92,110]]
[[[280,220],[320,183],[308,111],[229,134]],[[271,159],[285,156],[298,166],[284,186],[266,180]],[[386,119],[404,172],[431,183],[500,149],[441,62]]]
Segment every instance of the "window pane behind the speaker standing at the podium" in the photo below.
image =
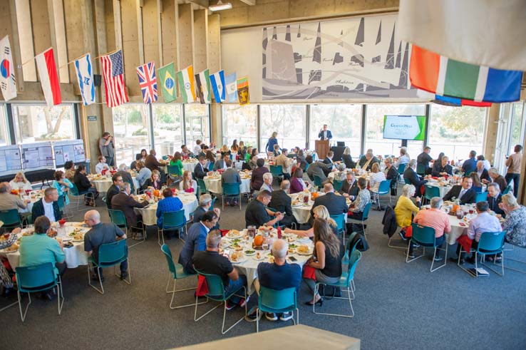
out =
[[327,124],[332,140],[343,141],[351,149],[351,155],[359,155],[361,143],[361,105],[311,105],[311,125],[309,148],[314,149],[314,141]]

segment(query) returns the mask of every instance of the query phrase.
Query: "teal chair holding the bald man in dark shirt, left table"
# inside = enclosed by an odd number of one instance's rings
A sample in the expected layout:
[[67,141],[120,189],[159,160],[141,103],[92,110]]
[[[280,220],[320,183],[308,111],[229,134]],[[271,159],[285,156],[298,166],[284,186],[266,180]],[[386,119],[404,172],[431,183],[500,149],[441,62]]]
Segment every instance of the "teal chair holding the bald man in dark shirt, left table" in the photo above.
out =
[[[103,269],[105,267],[113,267],[113,274],[120,277],[120,274],[115,272],[115,266],[120,265],[121,262],[128,259],[128,247],[126,246],[126,240],[117,240],[111,243],[105,243],[98,247],[98,262],[93,259],[93,256],[88,261],[88,284],[100,294],[104,294],[104,287],[102,280],[100,279],[100,273],[98,273],[98,282],[100,283],[100,289],[95,285],[91,284],[91,272],[95,269]],[[98,271],[98,270],[97,270]],[[128,260],[128,280],[123,279],[127,284],[131,284],[131,272],[130,272],[130,261]]]

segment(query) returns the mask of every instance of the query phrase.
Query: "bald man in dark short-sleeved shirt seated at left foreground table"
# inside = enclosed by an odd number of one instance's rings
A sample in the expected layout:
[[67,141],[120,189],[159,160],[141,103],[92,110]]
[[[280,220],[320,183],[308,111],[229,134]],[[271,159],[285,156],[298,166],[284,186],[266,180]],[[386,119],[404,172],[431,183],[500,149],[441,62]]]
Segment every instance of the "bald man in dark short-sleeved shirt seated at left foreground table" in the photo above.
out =
[[[84,251],[88,256],[98,262],[98,249],[106,243],[113,243],[117,240],[125,240],[126,234],[113,222],[100,222],[100,212],[97,210],[88,210],[84,214],[84,223],[90,227],[90,230],[84,235]],[[93,279],[104,281],[103,269],[94,269]],[[128,277],[128,259],[120,263],[120,279]]]

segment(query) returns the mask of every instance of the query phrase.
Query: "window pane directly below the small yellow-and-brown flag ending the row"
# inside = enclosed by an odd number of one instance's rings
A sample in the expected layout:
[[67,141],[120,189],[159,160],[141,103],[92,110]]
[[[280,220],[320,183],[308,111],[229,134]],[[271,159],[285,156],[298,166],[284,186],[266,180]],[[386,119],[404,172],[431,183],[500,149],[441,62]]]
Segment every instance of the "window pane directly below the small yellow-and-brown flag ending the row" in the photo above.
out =
[[257,105],[222,105],[223,144],[257,147]]

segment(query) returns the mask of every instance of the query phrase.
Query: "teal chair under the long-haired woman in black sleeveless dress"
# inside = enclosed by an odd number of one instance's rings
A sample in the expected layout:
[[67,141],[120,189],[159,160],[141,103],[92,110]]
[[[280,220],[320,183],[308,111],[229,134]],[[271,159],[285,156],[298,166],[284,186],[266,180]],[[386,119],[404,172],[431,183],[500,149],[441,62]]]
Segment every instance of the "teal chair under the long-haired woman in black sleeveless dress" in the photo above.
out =
[[[323,283],[326,286],[332,286],[332,287],[340,287],[341,292],[347,293],[347,297],[334,297],[334,299],[347,299],[349,300],[349,307],[351,307],[351,312],[349,314],[329,314],[324,312],[316,312],[316,303],[312,305],[312,312],[314,314],[319,315],[327,315],[327,316],[340,316],[340,317],[354,317],[354,309],[353,304],[351,300],[354,300],[354,291],[356,290],[356,287],[354,285],[354,272],[356,272],[356,265],[361,259],[361,252],[359,250],[354,250],[354,252],[351,254],[351,257],[349,258],[349,262],[344,264],[342,266],[341,276],[338,282],[336,283]],[[314,297],[316,294],[318,294],[319,285],[322,283],[316,283],[316,287],[314,287]],[[352,295],[352,297],[351,297]],[[313,302],[314,302],[313,297]]]

